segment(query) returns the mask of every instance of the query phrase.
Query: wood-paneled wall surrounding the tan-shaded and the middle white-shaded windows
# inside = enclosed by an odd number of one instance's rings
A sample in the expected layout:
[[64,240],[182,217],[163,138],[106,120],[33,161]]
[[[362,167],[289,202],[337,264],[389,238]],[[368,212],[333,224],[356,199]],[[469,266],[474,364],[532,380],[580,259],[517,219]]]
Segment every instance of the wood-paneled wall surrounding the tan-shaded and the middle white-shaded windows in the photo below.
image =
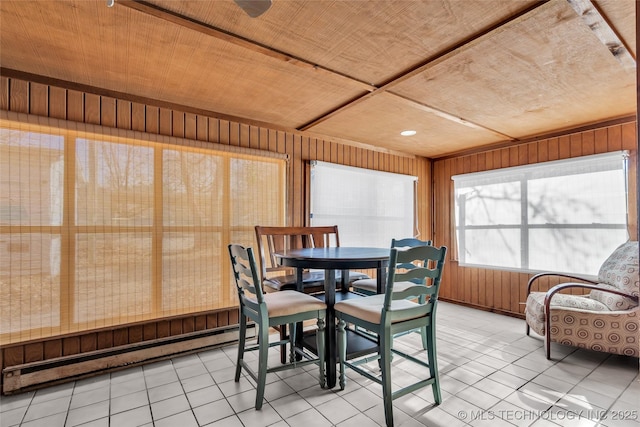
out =
[[[122,99],[91,88],[73,89],[47,84],[45,78],[29,81],[0,76],[0,109],[134,130],[203,142],[257,148],[289,155],[287,221],[305,225],[308,183],[306,162],[322,160],[349,166],[418,177],[418,225],[424,238],[431,236],[431,162],[424,158],[394,155],[360,146],[311,138],[299,132],[268,129],[213,117],[202,111],[160,102]],[[112,346],[180,335],[208,328],[235,325],[237,309],[200,313],[172,319],[88,331],[44,339],[0,350],[2,368],[49,358],[80,354]]]

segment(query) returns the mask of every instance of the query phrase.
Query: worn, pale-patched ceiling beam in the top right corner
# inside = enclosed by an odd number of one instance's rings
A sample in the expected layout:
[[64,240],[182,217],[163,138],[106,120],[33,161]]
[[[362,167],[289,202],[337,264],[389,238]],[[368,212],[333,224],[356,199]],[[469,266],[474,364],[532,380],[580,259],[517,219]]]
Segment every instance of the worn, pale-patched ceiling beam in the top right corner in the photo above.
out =
[[567,0],[567,2],[582,22],[625,68],[636,66],[636,59],[629,47],[591,0]]

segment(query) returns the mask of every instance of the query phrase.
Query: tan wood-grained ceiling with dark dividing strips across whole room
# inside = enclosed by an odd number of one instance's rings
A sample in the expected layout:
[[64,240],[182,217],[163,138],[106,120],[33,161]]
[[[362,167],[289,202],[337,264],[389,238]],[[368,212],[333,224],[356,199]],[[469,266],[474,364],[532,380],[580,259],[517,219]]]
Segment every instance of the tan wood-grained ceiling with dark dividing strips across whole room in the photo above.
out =
[[5,74],[425,157],[636,110],[633,0],[273,0],[257,18],[3,0],[0,18]]

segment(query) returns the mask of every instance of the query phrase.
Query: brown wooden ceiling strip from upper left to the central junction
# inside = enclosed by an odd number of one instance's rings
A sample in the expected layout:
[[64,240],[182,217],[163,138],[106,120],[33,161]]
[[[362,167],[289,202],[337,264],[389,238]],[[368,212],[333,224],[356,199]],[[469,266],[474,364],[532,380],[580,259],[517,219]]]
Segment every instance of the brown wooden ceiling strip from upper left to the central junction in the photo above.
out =
[[341,77],[343,79],[348,80],[350,84],[355,84],[358,86],[360,90],[363,90],[366,92],[371,92],[376,89],[376,86],[370,83],[364,82],[362,80],[356,79],[355,77],[348,76],[344,73],[323,67],[318,64],[314,64],[310,61],[307,61],[304,58],[299,58],[299,57],[290,55],[278,49],[274,49],[272,47],[263,45],[253,40],[249,40],[237,34],[233,34],[229,31],[225,31],[223,29],[214,27],[213,25],[205,24],[204,22],[200,22],[195,19],[180,15],[176,12],[163,9],[159,6],[148,3],[146,1],[117,0],[116,4],[121,6],[126,6],[130,9],[153,16],[155,18],[163,19],[167,22],[171,22],[172,24],[175,24],[184,28],[188,28],[193,31],[197,31],[207,36],[215,37],[219,40],[225,41],[227,43],[232,43],[236,46],[243,47],[247,50],[271,57],[278,61],[286,62],[288,64],[305,68],[307,70],[316,70],[317,72],[320,72],[320,73],[326,73],[332,76]]

